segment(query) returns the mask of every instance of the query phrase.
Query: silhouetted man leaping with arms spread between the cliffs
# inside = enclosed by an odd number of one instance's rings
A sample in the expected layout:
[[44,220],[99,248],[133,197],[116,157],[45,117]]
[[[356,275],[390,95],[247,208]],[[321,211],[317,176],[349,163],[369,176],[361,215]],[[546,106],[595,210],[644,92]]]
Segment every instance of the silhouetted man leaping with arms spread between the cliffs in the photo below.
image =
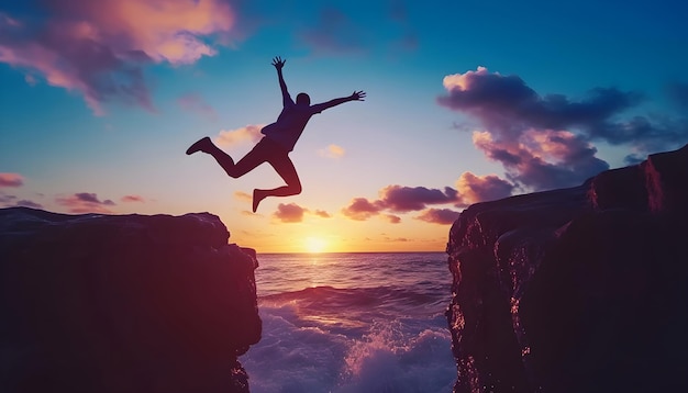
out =
[[287,186],[278,187],[271,190],[253,190],[253,212],[258,209],[260,201],[267,196],[289,196],[301,193],[301,181],[297,175],[293,162],[289,158],[289,151],[293,150],[299,136],[303,132],[306,124],[312,115],[320,113],[329,108],[342,104],[348,101],[364,101],[366,93],[364,91],[354,91],[348,97],[342,97],[328,102],[311,105],[311,98],[307,93],[299,93],[295,103],[287,90],[287,83],[282,77],[281,69],[287,60],[281,57],[273,59],[273,66],[277,69],[279,78],[279,87],[281,89],[284,108],[277,121],[269,124],[260,133],[265,135],[254,148],[234,164],[232,157],[215,146],[208,136],[196,142],[187,149],[187,154],[196,151],[208,153],[213,156],[220,164],[222,169],[232,178],[238,178],[263,162],[269,162],[277,173],[285,180]]

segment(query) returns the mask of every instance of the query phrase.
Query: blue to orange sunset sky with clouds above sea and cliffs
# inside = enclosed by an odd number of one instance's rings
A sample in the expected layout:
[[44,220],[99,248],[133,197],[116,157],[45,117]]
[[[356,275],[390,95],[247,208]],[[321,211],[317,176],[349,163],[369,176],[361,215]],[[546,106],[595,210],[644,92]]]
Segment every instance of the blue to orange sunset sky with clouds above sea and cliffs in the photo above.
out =
[[[0,1],[0,206],[210,212],[258,252],[442,251],[468,205],[574,187],[688,143],[688,3]],[[235,159],[292,97],[364,90],[290,154]]]

